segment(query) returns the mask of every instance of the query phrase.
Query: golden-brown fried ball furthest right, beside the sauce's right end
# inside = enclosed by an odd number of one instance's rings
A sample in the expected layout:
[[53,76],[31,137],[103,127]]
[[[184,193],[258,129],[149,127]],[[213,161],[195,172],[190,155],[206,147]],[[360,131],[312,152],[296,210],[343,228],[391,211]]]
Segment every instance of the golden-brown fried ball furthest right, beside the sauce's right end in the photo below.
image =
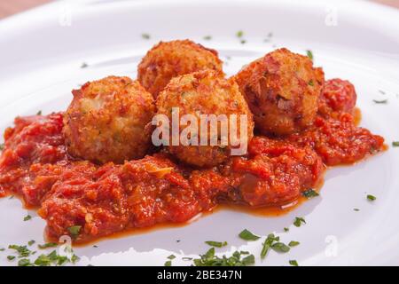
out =
[[278,49],[235,75],[262,134],[286,135],[309,126],[317,114],[325,75],[300,54]]

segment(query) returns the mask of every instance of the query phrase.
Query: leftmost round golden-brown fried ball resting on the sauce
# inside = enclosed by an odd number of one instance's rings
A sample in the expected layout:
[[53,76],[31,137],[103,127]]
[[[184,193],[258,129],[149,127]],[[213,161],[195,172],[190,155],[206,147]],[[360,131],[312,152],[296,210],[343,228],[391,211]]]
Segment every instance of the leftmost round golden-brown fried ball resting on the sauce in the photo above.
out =
[[[129,77],[108,76],[74,90],[64,115],[68,153],[92,162],[142,158],[151,145],[153,96]],[[147,126],[148,125],[148,126]]]

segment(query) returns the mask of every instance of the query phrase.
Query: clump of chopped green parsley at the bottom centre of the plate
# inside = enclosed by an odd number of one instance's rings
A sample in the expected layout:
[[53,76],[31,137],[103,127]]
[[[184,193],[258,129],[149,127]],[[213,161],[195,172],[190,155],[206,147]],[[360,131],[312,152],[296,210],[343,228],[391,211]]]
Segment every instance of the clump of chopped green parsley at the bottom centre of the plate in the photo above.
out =
[[247,266],[254,264],[254,255],[246,251],[235,251],[230,257],[215,256],[215,248],[210,248],[205,255],[194,259],[195,266]]

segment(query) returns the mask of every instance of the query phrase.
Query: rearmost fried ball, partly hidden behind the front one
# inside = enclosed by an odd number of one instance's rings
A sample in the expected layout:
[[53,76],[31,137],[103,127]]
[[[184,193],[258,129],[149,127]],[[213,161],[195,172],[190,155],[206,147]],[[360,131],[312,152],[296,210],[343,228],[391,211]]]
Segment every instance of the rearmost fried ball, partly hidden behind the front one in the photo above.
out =
[[217,51],[190,40],[160,42],[141,60],[137,80],[156,99],[173,77],[206,69],[222,71]]

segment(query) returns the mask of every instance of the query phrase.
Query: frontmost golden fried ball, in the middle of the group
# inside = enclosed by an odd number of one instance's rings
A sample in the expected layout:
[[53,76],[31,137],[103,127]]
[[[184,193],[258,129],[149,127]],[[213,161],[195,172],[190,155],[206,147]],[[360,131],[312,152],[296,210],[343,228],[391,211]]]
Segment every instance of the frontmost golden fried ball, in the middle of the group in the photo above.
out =
[[[156,104],[158,114],[168,116],[169,127],[172,127],[172,116],[176,107],[180,117],[184,114],[192,114],[196,118],[199,128],[192,137],[198,138],[199,145],[183,146],[180,144],[167,147],[168,152],[181,162],[197,167],[212,167],[224,162],[231,155],[231,149],[235,147],[231,144],[231,139],[227,140],[227,145],[221,143],[223,137],[225,138],[222,136],[222,123],[217,124],[217,130],[215,128],[212,130],[210,123],[203,127],[200,126],[203,114],[215,114],[216,116],[225,114],[228,119],[232,116],[231,114],[245,114],[246,122],[243,122],[242,127],[246,133],[241,131],[240,115],[237,115],[237,124],[234,124],[237,128],[234,133],[237,133],[237,137],[246,143],[249,143],[253,137],[254,121],[246,100],[239,92],[239,86],[234,79],[227,80],[222,73],[205,70],[175,77],[160,92]],[[227,125],[228,131],[233,131],[231,128],[233,123]],[[178,133],[182,133],[185,127],[180,124]],[[204,134],[207,144],[200,145],[200,137]],[[190,138],[192,137],[190,136]],[[210,138],[217,139],[216,146],[211,145]]]

